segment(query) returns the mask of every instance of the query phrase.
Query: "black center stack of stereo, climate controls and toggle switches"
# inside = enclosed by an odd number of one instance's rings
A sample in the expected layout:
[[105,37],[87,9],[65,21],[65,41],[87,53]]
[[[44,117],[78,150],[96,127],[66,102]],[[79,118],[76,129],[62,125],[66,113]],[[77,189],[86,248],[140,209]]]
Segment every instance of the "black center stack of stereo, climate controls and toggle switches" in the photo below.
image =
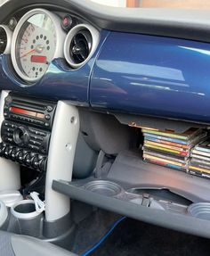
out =
[[4,101],[0,156],[45,171],[56,103],[9,94]]

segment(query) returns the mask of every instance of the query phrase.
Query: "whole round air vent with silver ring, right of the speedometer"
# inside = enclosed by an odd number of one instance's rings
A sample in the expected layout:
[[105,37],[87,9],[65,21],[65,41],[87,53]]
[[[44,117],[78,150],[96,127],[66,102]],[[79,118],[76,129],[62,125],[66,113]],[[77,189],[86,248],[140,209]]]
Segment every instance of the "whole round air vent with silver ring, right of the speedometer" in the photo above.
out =
[[69,65],[77,69],[90,60],[99,43],[99,32],[91,25],[80,24],[69,31],[64,55]]

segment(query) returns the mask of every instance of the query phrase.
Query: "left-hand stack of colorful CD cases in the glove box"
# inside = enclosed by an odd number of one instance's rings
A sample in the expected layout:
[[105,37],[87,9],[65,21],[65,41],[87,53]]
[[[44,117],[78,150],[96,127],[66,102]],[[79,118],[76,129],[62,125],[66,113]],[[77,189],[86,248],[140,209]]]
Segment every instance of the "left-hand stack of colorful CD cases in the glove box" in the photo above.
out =
[[183,133],[153,128],[141,131],[144,161],[182,171],[188,170],[191,149],[206,136],[201,128],[189,128]]

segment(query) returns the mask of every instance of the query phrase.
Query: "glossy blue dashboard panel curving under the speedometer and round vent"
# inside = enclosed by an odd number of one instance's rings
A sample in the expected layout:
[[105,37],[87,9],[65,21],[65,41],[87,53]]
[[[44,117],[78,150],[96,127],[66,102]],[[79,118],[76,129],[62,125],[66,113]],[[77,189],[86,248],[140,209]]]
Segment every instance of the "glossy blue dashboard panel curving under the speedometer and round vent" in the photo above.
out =
[[27,85],[17,77],[12,69],[10,55],[0,55],[0,89],[52,100],[70,100],[78,105],[89,104],[89,84],[93,64],[108,35],[109,31],[101,31],[100,44],[85,65],[73,70],[64,59],[55,59],[44,77],[34,85]]

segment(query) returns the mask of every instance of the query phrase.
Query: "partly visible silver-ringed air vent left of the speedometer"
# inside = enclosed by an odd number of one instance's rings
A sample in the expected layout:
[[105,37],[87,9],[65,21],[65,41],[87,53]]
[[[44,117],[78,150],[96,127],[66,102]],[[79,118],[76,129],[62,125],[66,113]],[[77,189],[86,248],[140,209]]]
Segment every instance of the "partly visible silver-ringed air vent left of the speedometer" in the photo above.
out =
[[0,25],[0,54],[9,54],[11,47],[12,32],[4,25]]

